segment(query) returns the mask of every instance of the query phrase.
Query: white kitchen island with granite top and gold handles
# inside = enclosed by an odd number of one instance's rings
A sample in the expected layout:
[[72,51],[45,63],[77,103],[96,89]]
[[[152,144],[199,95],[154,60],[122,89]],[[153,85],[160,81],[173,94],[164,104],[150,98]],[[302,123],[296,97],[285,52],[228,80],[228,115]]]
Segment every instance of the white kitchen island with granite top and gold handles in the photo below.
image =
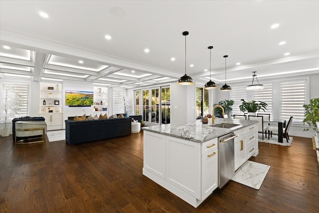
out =
[[143,175],[193,207],[218,186],[218,137],[234,132],[240,139],[234,142],[235,169],[258,155],[257,121],[215,118],[213,125],[196,121],[143,130]]

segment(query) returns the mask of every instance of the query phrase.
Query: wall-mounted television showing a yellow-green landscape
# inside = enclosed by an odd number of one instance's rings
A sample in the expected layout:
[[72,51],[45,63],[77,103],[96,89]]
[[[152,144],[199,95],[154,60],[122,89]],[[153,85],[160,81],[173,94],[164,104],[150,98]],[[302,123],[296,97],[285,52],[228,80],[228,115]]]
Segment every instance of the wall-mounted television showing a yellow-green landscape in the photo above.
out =
[[93,92],[65,90],[65,105],[83,107],[93,105]]

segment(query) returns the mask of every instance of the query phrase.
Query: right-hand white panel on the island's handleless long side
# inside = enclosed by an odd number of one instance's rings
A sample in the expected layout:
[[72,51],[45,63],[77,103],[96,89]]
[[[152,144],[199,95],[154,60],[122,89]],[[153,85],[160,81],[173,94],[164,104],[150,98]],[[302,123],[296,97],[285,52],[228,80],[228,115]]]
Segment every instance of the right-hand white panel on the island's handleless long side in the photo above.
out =
[[200,200],[200,143],[166,136],[166,181]]

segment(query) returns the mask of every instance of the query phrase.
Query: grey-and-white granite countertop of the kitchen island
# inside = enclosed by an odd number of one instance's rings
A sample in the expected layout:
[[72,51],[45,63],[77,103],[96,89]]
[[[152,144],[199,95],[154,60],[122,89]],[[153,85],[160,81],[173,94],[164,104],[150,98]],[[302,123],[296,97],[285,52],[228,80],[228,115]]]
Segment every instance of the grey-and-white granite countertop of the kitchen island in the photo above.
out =
[[238,126],[226,129],[213,127],[209,124],[202,124],[201,120],[197,120],[194,123],[172,123],[162,124],[156,126],[143,127],[145,131],[155,132],[163,135],[168,135],[184,140],[194,141],[197,143],[203,143],[211,139],[217,138],[222,135],[226,135],[230,132],[245,128],[253,125],[258,121],[253,120],[239,120],[231,118],[215,118],[213,125],[220,123],[238,124]]

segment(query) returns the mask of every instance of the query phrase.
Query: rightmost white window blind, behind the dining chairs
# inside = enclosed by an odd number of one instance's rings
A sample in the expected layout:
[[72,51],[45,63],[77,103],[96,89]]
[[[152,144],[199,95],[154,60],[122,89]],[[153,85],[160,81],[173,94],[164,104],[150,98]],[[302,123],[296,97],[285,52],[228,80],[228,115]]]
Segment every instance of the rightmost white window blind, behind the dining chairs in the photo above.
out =
[[288,121],[290,116],[294,116],[293,123],[303,122],[303,105],[307,102],[306,83],[306,79],[280,83],[280,119]]

